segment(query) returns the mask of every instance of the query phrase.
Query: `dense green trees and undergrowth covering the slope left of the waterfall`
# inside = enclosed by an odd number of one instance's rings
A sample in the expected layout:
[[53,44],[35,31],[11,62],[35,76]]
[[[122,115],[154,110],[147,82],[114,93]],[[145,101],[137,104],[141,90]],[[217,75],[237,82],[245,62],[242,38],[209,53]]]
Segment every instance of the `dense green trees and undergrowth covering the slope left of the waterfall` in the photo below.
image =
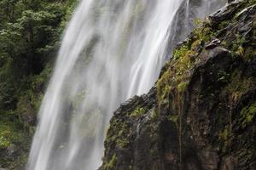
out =
[[[26,162],[36,113],[75,2],[0,0],[0,166],[15,169]],[[18,158],[12,161],[7,150],[15,145]]]

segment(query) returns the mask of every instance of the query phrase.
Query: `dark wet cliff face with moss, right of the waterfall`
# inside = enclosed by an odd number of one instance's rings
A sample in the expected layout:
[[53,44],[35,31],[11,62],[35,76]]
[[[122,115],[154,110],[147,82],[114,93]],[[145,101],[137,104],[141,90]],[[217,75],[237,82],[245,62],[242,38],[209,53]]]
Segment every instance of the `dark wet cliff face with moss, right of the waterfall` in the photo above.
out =
[[148,94],[120,105],[101,170],[256,169],[255,3],[212,14]]

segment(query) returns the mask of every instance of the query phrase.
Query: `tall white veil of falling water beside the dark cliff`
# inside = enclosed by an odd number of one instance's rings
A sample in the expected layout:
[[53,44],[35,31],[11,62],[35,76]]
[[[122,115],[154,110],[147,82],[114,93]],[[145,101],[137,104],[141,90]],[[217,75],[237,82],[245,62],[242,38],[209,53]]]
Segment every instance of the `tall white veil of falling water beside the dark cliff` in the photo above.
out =
[[148,92],[193,18],[219,2],[81,0],[40,107],[27,168],[96,170],[113,111]]

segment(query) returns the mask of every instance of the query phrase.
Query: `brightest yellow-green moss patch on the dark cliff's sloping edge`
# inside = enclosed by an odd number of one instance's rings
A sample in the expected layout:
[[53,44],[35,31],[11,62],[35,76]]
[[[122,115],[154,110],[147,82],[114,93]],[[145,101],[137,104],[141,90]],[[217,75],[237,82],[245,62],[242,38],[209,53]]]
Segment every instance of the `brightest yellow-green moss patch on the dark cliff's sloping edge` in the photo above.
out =
[[195,57],[201,53],[202,44],[209,40],[208,31],[202,27],[196,29],[192,34],[193,38],[175,49],[173,59],[166,64],[166,71],[156,83],[159,104],[168,104],[173,89],[181,93],[187,88]]

